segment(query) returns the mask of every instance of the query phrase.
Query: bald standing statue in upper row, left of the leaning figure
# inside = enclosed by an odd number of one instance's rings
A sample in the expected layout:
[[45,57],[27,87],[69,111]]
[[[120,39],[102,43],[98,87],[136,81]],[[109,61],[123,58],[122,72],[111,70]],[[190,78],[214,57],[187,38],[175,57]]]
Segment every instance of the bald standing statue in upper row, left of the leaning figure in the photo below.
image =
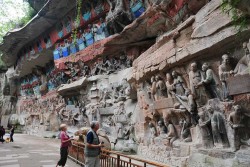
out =
[[192,94],[195,96],[198,106],[203,106],[206,104],[208,97],[205,92],[204,86],[198,86],[202,81],[201,71],[197,68],[197,63],[191,64],[191,71],[189,72],[189,82]]

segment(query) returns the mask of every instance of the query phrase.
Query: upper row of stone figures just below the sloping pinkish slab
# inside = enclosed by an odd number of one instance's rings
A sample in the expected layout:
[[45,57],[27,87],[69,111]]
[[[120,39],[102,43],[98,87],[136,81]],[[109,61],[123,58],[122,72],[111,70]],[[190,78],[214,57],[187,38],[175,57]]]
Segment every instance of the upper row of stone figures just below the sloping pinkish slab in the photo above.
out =
[[[161,76],[152,76],[151,86],[148,87],[149,97],[154,101],[163,97],[176,97],[182,104],[185,101],[189,105],[193,104],[198,107],[205,105],[209,99],[213,98],[230,101],[232,97],[229,94],[228,79],[236,75],[249,74],[247,69],[250,62],[243,64],[246,57],[249,55],[243,56],[233,70],[230,66],[230,57],[226,54],[223,55],[222,63],[218,68],[219,79],[208,63],[202,65],[202,70],[198,69],[196,62],[191,63],[191,70],[188,73],[189,88],[176,71],[166,74],[166,82]],[[219,82],[221,84],[218,84]]]

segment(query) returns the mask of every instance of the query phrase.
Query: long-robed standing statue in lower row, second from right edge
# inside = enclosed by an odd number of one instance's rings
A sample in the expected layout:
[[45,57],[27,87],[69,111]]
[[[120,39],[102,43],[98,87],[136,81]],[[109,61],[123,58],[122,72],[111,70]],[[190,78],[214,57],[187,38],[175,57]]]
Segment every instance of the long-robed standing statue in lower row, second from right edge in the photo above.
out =
[[227,131],[222,114],[213,109],[211,105],[207,106],[207,111],[210,114],[214,146],[219,148],[229,147]]

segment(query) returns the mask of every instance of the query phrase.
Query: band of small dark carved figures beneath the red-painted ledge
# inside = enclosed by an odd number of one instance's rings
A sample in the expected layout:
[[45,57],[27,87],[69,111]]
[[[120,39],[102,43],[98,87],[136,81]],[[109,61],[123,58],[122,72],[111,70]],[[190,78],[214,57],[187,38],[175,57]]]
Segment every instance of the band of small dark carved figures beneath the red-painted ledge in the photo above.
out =
[[[124,67],[122,67],[124,66]],[[48,84],[53,84],[54,88],[60,86],[61,84],[70,83],[79,79],[80,77],[86,76],[93,76],[93,75],[100,75],[100,74],[110,74],[117,70],[123,68],[131,67],[131,60],[124,58],[112,58],[107,59],[104,63],[99,62],[95,63],[95,66],[91,70],[90,67],[84,64],[82,61],[79,62],[66,62],[65,63],[65,70],[58,71],[57,73],[53,73],[53,75],[48,75],[47,80]],[[53,70],[52,70],[53,71]],[[40,82],[40,77],[36,76],[35,74],[30,76],[31,79],[26,78],[21,81],[21,89],[32,89],[33,87],[42,85],[43,83]],[[38,82],[39,81],[39,82]],[[34,84],[36,83],[36,84]]]

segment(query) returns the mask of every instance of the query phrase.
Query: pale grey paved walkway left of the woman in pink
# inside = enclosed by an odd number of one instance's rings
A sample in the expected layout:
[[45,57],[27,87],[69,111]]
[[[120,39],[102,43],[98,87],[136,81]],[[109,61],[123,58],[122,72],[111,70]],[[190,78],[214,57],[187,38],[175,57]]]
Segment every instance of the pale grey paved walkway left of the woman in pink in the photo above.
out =
[[[15,134],[13,143],[0,143],[0,167],[55,167],[60,141]],[[66,167],[80,167],[68,159]]]

